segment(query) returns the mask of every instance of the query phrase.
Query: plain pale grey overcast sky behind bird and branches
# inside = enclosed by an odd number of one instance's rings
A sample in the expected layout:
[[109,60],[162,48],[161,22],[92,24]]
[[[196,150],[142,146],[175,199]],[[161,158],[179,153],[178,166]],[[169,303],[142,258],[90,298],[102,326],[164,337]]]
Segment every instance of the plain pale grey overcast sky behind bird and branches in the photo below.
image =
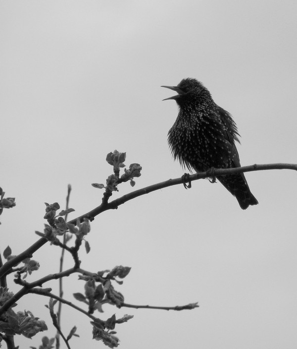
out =
[[[1,1],[0,186],[17,203],[0,217],[1,252],[36,241],[44,202],[64,206],[68,183],[70,218],[98,206],[102,191],[91,183],[111,174],[105,157],[114,149],[127,152],[127,166],[143,166],[135,189],[181,176],[167,146],[178,110],[161,102],[171,92],[160,85],[185,77],[202,81],[234,116],[242,165],[297,163],[296,7],[293,0]],[[117,287],[127,303],[200,305],[184,312],[106,306],[102,319],[135,315],[117,326],[120,348],[296,348],[296,174],[246,176],[259,201],[246,211],[220,183],[199,180],[92,223],[82,267],[132,267]],[[114,198],[134,189],[119,190]],[[28,281],[56,272],[59,253],[39,250],[41,269]],[[76,279],[65,280],[68,300],[83,291]],[[53,337],[46,303],[27,296],[18,310],[46,320]],[[81,336],[72,349],[103,348],[91,340],[87,317],[63,309],[64,332],[76,325]],[[38,347],[44,335],[16,344]]]

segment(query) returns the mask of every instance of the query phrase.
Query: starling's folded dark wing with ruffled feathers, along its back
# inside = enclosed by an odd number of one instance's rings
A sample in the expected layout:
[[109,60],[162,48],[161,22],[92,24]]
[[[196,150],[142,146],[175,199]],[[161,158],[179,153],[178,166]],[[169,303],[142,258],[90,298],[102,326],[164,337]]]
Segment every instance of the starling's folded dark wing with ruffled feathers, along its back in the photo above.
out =
[[218,106],[218,112],[222,120],[222,123],[225,126],[224,136],[227,139],[227,141],[231,144],[232,150],[235,154],[233,158],[234,165],[235,167],[240,167],[239,154],[235,145],[235,141],[240,143],[240,140],[238,138],[240,137],[240,134],[238,133],[236,123],[234,122],[231,114],[219,106]]

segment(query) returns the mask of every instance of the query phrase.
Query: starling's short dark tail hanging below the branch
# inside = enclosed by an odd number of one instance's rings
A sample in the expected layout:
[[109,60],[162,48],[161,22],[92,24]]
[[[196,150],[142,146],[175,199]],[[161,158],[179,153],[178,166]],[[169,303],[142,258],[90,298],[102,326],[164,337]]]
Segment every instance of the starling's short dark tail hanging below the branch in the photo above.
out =
[[244,174],[222,175],[217,179],[237,198],[240,207],[245,210],[249,205],[257,205],[257,199],[252,195]]

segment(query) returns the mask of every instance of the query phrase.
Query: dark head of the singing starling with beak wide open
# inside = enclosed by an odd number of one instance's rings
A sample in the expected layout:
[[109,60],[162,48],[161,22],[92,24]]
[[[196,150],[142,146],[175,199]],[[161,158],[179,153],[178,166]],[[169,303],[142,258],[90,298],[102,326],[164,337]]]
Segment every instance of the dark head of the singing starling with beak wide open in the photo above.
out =
[[177,86],[161,86],[169,88],[170,90],[176,91],[178,94],[169,98],[163,99],[163,101],[174,99],[178,105],[185,103],[197,103],[198,100],[205,95],[208,98],[210,93],[208,90],[194,78],[183,79]]

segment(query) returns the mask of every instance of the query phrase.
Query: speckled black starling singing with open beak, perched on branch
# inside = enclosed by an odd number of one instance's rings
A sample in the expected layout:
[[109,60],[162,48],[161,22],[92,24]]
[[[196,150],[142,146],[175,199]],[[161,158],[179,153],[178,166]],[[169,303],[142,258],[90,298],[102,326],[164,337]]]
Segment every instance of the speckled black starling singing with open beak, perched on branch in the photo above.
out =
[[[240,167],[235,141],[239,141],[237,126],[232,116],[214,103],[201,82],[183,79],[177,86],[161,86],[176,91],[179,106],[177,119],[168,132],[168,143],[174,160],[183,168],[204,172],[212,168]],[[245,210],[258,201],[250,192],[245,175],[216,177]]]

